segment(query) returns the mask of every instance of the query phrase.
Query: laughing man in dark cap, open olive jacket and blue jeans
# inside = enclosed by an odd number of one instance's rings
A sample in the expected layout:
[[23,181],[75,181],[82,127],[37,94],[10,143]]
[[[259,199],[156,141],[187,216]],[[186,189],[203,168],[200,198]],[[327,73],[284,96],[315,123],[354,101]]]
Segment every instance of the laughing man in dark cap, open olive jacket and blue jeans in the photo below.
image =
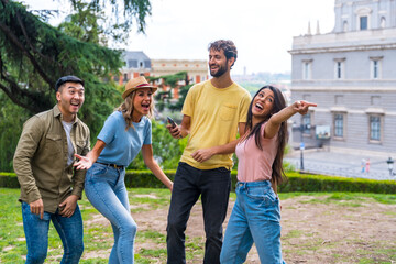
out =
[[23,125],[13,158],[21,185],[26,263],[44,263],[50,221],[63,245],[62,263],[78,263],[82,255],[81,198],[86,170],[73,167],[74,154],[89,152],[89,129],[77,118],[84,103],[84,81],[64,76],[55,85],[57,105]]

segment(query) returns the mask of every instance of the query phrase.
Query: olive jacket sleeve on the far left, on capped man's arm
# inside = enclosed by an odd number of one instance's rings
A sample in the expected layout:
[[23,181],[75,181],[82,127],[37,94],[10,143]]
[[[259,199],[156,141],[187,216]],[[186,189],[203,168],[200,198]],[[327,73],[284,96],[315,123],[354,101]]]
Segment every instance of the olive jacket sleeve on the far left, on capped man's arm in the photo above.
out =
[[33,176],[31,160],[38,147],[44,128],[45,124],[37,117],[29,119],[23,125],[13,157],[13,168],[21,189],[28,196],[28,204],[42,198]]

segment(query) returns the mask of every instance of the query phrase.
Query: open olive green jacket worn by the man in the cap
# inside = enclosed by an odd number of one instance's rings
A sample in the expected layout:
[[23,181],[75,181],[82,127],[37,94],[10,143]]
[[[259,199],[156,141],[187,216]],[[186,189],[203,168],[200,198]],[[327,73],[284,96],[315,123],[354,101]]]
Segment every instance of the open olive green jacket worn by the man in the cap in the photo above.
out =
[[[70,138],[75,153],[89,152],[89,129],[78,118]],[[55,212],[70,195],[81,197],[86,170],[67,165],[67,138],[62,113],[53,109],[37,113],[23,124],[13,157],[13,168],[21,185],[20,201],[43,199],[44,211]]]

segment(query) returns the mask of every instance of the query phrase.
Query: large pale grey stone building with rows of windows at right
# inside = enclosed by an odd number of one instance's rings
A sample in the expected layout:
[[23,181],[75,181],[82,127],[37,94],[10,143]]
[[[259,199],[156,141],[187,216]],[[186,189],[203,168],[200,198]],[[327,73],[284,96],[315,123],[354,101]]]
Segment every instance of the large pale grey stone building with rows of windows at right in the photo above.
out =
[[396,154],[396,1],[336,0],[327,34],[293,40],[292,98],[317,102],[293,117],[293,145]]

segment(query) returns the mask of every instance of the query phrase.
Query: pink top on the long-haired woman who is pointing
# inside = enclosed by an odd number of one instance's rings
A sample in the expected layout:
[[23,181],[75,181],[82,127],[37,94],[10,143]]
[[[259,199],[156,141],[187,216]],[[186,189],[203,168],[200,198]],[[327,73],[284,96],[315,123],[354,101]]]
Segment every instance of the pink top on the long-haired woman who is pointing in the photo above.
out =
[[277,134],[273,139],[264,139],[266,124],[265,122],[261,128],[263,150],[256,146],[254,135],[237,145],[239,182],[260,182],[272,178],[272,165],[277,151]]

